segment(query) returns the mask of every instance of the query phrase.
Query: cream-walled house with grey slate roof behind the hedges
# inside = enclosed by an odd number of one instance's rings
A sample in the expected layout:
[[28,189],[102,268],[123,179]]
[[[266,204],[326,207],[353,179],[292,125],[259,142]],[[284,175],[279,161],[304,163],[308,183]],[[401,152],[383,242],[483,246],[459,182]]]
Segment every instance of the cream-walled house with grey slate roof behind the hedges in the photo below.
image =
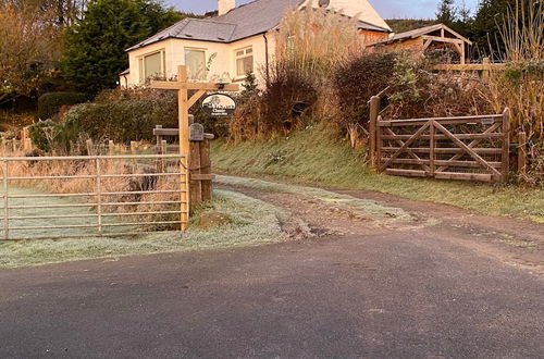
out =
[[257,70],[274,59],[273,32],[285,11],[308,7],[356,18],[368,42],[387,39],[392,33],[368,0],[256,0],[240,7],[235,0],[218,0],[218,16],[185,18],[127,49],[129,69],[120,74],[121,85],[172,78],[178,65],[186,65],[194,81],[240,82],[248,72],[259,77]]

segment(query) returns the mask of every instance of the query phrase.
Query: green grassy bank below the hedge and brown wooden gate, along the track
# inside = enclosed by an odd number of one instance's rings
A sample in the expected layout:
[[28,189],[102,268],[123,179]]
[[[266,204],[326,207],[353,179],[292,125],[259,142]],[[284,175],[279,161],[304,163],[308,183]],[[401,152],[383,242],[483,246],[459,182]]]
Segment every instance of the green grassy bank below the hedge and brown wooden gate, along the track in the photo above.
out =
[[373,174],[364,152],[353,150],[321,127],[267,141],[227,145],[214,141],[218,171],[274,176],[297,183],[375,190],[408,199],[454,205],[478,213],[511,215],[544,223],[544,190],[514,185],[393,177]]

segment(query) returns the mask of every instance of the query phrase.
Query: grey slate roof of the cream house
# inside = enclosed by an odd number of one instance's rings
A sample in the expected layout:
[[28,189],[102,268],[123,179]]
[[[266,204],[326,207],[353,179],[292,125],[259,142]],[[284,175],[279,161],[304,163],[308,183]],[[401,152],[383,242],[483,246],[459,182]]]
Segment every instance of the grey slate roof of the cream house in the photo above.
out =
[[[295,9],[304,0],[256,0],[221,16],[205,20],[185,18],[126,51],[169,38],[224,44],[238,41],[274,28],[282,21],[286,9]],[[390,29],[362,21],[357,25],[360,29],[390,33]]]

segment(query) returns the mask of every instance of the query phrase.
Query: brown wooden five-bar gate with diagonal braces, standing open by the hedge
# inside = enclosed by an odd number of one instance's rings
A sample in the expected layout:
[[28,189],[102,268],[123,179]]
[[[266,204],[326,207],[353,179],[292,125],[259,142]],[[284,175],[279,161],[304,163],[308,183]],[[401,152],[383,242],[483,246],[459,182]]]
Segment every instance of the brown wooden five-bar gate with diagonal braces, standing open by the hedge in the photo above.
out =
[[[505,182],[510,112],[371,123],[371,162],[390,175]],[[374,150],[375,149],[375,152]]]

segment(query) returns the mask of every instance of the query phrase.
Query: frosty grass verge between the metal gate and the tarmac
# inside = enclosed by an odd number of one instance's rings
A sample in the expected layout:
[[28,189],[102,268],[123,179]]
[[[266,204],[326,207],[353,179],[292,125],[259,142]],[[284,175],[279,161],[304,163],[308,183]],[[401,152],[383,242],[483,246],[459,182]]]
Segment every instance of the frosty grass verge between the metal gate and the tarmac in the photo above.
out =
[[0,268],[60,263],[95,258],[116,258],[208,248],[248,246],[283,240],[283,210],[247,196],[215,190],[206,211],[227,214],[230,223],[210,230],[198,227],[198,215],[190,231],[141,235],[133,238],[82,238],[0,243]]

